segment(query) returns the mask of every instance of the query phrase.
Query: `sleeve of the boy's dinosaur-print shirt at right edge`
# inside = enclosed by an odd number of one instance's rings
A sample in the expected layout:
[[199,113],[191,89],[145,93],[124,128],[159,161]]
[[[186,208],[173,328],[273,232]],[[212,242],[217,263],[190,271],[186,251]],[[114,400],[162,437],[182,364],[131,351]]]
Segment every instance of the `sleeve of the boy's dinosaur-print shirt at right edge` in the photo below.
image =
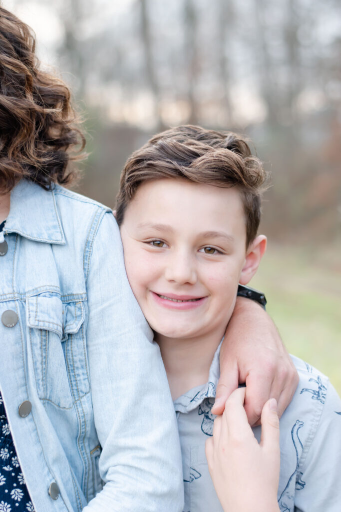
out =
[[341,400],[329,383],[296,477],[295,511],[339,512],[341,503]]

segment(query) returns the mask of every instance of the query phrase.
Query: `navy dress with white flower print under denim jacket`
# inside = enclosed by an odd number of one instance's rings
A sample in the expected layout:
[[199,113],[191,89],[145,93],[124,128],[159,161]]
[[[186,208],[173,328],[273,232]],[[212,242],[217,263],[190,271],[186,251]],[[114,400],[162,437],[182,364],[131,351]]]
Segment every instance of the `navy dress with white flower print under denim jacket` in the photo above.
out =
[[[5,222],[0,224],[0,232]],[[0,512],[34,512],[0,393]]]

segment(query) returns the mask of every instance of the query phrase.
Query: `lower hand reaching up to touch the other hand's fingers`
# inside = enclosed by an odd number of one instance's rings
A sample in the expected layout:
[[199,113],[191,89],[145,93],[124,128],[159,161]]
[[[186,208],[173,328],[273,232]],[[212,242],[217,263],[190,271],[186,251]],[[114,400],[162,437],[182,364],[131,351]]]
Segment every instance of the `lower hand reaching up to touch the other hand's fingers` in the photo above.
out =
[[258,443],[243,407],[245,388],[235,390],[206,441],[211,478],[225,512],[279,512],[279,418],[274,398],[262,410]]

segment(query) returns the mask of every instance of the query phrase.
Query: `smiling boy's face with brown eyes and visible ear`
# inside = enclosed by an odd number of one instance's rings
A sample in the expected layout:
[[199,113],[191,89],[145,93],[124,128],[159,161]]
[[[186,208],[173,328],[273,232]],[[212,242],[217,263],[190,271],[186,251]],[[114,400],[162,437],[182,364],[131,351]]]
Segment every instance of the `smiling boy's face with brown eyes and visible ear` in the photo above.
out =
[[245,250],[236,188],[182,179],[140,185],[121,237],[129,283],[149,325],[176,338],[221,337],[238,282],[246,284],[257,269],[261,254],[257,259],[253,244],[261,238],[265,249],[265,237],[257,237]]

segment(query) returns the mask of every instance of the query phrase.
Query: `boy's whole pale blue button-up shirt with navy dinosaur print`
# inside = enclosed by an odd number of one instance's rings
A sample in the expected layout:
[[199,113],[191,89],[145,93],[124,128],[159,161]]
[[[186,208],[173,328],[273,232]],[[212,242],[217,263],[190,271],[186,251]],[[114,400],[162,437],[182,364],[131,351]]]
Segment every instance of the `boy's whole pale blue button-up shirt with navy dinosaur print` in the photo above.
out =
[[[205,386],[174,401],[183,455],[185,512],[222,512],[205,456],[215,416],[211,408],[219,379],[218,347]],[[341,510],[341,400],[327,377],[292,356],[300,376],[280,420],[281,512]],[[254,434],[260,440],[260,427]],[[247,482],[245,481],[245,487]]]

